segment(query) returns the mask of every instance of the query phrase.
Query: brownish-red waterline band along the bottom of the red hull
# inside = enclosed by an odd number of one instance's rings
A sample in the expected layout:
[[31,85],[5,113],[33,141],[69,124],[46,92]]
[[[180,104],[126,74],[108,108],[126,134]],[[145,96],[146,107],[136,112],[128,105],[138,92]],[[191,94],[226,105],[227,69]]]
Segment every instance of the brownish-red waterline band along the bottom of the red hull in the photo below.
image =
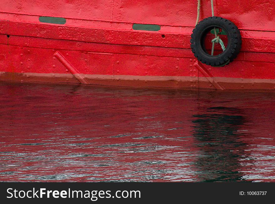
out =
[[[40,82],[79,84],[76,77],[83,78],[88,85],[118,87],[160,87],[160,88],[210,88],[218,83],[222,90],[269,89],[275,90],[275,79],[242,79],[225,77],[176,77],[176,76],[129,76],[129,75],[90,75],[90,74],[55,74],[55,73],[11,73],[0,72],[2,81]],[[215,81],[214,81],[215,80]]]

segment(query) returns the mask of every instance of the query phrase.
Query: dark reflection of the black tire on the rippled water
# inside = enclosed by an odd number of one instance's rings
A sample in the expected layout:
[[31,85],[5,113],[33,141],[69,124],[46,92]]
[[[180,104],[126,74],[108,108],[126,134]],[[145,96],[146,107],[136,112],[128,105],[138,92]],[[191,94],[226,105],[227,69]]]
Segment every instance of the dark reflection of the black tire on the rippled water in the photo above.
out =
[[[226,182],[242,180],[239,159],[246,144],[237,134],[244,124],[236,108],[208,108],[209,114],[194,115],[194,144],[202,151],[196,162],[199,181]],[[239,133],[239,132],[238,132]]]

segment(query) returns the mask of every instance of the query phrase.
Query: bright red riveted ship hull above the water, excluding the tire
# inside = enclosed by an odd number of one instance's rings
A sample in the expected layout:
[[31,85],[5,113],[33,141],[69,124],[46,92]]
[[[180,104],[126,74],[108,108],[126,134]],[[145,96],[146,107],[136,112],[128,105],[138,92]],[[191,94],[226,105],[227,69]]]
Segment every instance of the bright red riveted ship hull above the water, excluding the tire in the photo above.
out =
[[[197,17],[195,0],[39,2],[0,2],[1,80],[172,88],[275,87],[275,7],[271,1],[214,1],[215,15],[234,22],[242,35],[241,53],[226,67],[196,64],[190,49]],[[210,0],[203,1],[201,19],[209,16]]]

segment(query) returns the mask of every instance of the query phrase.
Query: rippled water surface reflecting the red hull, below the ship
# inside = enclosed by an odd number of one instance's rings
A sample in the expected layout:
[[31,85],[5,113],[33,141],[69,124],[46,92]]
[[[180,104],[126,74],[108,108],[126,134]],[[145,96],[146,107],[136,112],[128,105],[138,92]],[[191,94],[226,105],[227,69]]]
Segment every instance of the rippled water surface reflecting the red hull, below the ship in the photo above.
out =
[[273,93],[0,92],[0,181],[274,182]]

